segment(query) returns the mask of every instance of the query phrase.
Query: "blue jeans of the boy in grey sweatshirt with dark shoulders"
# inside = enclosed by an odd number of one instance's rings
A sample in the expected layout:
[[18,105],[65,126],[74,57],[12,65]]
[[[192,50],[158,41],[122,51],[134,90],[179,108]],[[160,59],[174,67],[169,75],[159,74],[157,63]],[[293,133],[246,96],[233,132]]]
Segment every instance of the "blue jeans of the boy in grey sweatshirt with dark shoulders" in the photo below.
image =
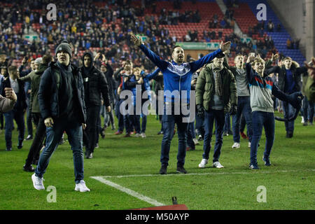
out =
[[253,111],[253,137],[251,139],[251,164],[257,164],[257,151],[262,127],[265,129],[266,145],[264,158],[268,159],[274,144],[274,113]]

